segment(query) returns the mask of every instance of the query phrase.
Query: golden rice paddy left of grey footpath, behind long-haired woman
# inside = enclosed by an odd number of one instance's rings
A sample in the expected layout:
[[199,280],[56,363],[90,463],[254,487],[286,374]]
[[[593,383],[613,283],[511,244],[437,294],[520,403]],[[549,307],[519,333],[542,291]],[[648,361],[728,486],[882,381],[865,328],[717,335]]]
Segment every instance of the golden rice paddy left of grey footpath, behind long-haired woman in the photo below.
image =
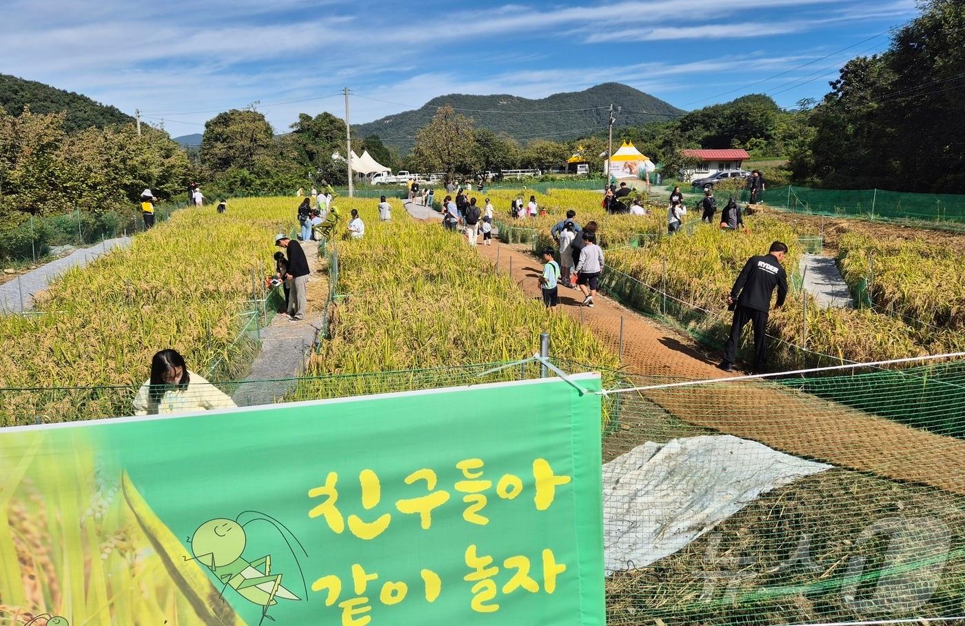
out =
[[[180,210],[37,298],[37,314],[0,317],[0,425],[124,415],[151,357],[173,347],[204,372],[240,373],[250,341],[238,341],[253,309],[253,282],[274,268],[272,234],[294,223],[297,203],[244,199],[226,214]],[[49,388],[91,386],[86,391]]]

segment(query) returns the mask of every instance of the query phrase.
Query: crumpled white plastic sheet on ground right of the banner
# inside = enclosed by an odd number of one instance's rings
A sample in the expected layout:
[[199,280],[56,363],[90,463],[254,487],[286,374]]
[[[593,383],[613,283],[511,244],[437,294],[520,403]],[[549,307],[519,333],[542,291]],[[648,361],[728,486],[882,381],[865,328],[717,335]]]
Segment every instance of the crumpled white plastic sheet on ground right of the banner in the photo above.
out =
[[672,555],[761,494],[831,467],[731,435],[632,449],[603,465],[606,569]]

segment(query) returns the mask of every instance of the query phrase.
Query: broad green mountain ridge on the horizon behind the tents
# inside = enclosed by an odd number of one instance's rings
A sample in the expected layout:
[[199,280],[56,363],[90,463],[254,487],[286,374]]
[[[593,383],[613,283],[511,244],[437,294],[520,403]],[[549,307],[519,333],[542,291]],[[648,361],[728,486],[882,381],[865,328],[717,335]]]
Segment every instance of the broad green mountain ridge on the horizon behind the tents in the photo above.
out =
[[[607,125],[610,104],[615,110],[622,107],[615,128],[662,122],[684,113],[672,104],[632,87],[602,83],[582,92],[565,92],[539,99],[508,94],[440,95],[419,109],[374,122],[352,124],[352,134],[358,137],[378,135],[385,145],[406,152],[411,150],[419,128],[431,121],[437,107],[446,104],[473,118],[477,127],[505,133],[522,143],[537,139],[567,141],[599,132]],[[540,114],[538,111],[554,113]]]

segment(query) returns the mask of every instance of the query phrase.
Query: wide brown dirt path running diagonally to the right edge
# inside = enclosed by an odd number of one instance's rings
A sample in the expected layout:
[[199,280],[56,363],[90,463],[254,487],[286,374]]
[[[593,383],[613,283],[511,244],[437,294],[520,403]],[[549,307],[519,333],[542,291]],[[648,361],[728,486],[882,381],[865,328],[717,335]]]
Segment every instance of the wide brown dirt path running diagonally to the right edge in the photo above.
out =
[[[493,262],[498,254],[503,272],[509,271],[511,259],[512,280],[528,295],[539,297],[540,262],[525,247],[494,241],[492,246],[477,249]],[[725,375],[716,367],[718,355],[674,330],[605,296],[597,295],[593,309],[579,306],[582,300],[577,290],[561,287],[562,311],[558,313],[582,318],[615,353],[622,316],[622,364],[629,373],[690,380]],[[840,467],[965,493],[965,441],[766,384],[725,383],[654,390],[644,395],[683,422]]]

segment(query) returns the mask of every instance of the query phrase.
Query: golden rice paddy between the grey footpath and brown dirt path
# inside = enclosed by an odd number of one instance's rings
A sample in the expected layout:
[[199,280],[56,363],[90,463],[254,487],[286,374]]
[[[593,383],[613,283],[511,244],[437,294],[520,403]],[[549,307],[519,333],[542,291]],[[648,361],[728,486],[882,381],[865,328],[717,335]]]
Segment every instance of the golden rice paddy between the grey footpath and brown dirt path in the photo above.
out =
[[[541,331],[549,331],[555,357],[617,367],[587,329],[568,315],[547,313],[463,236],[411,219],[401,208],[383,223],[371,201],[343,201],[345,207],[359,209],[366,235],[333,242],[345,298],[311,374],[454,367],[451,384],[463,384],[472,381],[460,378],[457,366],[531,356]],[[302,396],[317,394],[335,392]]]

